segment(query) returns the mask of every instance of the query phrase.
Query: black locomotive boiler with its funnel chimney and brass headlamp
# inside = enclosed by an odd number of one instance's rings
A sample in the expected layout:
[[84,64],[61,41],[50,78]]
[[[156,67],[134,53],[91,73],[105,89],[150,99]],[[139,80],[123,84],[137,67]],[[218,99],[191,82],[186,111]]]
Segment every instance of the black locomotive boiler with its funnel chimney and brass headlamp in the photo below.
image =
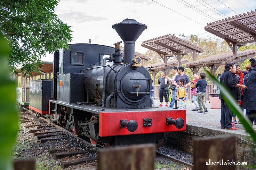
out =
[[[151,77],[148,71],[141,67],[141,59],[134,58],[135,41],[147,26],[133,19],[125,19],[113,25],[112,28],[124,41],[125,58],[122,60],[120,42],[117,42],[114,44],[115,53],[103,59],[103,65],[106,66],[106,61],[111,61],[114,63],[113,66],[81,71],[88,76],[86,83],[89,85],[85,87],[85,92],[92,100],[94,100],[93,96],[103,99],[102,108],[104,108],[105,96],[108,96],[106,98],[107,108],[114,106],[116,108],[148,108],[152,105],[149,96]],[[120,64],[122,61],[124,64]]]

